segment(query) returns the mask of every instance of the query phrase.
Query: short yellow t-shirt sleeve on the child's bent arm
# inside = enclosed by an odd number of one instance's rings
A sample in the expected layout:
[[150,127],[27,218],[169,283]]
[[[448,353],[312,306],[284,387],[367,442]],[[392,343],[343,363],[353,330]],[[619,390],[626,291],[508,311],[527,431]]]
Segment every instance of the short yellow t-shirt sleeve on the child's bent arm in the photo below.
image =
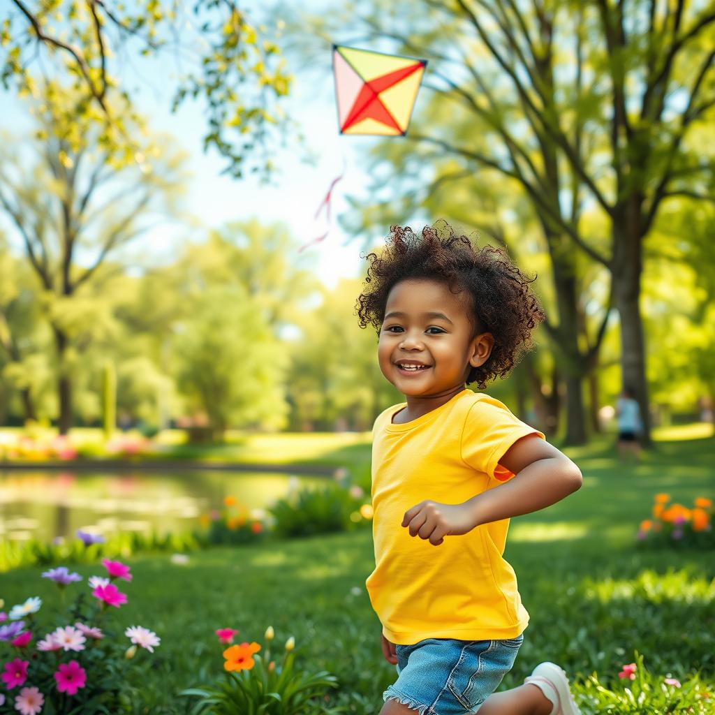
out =
[[475,402],[467,413],[462,430],[462,459],[471,468],[500,481],[513,477],[499,460],[517,440],[543,433],[513,415],[508,407],[488,395]]

